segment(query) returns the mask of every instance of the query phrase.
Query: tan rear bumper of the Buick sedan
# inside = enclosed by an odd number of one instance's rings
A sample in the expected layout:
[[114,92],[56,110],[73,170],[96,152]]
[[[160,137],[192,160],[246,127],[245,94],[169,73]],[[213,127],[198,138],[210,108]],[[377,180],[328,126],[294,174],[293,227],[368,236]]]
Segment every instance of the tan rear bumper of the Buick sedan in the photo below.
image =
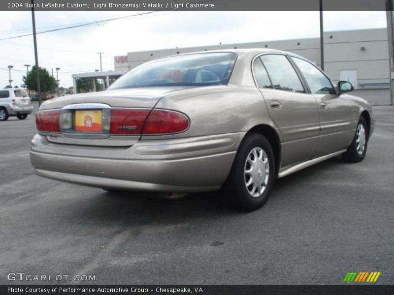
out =
[[243,137],[139,141],[132,147],[78,147],[32,140],[31,162],[42,177],[102,188],[201,192],[220,188]]

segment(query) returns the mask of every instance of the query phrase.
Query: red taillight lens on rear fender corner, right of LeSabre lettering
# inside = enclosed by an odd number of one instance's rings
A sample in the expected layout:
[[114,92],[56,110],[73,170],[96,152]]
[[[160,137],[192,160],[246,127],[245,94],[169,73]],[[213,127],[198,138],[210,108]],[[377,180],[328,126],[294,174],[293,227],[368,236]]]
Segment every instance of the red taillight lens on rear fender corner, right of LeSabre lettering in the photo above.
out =
[[145,122],[142,134],[178,133],[189,128],[189,119],[178,112],[153,110]]

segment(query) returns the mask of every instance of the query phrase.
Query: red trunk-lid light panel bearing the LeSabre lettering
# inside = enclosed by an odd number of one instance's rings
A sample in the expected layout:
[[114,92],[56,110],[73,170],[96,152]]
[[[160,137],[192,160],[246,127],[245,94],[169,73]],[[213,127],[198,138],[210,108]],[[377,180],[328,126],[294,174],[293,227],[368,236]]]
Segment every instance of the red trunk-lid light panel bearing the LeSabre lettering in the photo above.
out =
[[112,134],[141,134],[149,110],[138,109],[112,109],[111,127]]

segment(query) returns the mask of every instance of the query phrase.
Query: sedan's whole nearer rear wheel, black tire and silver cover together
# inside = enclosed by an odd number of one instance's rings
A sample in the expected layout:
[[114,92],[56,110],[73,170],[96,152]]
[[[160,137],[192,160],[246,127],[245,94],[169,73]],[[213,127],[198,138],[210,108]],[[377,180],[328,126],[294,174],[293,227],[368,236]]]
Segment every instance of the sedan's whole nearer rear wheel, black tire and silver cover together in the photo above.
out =
[[[251,163],[254,163],[254,168]],[[248,170],[252,171],[248,173]],[[238,148],[230,175],[222,186],[222,197],[236,209],[257,210],[267,201],[275,176],[275,159],[271,145],[263,135],[252,133]],[[259,192],[258,185],[264,182],[265,186],[262,185]],[[247,186],[247,183],[251,184]],[[257,186],[255,190],[254,186]]]

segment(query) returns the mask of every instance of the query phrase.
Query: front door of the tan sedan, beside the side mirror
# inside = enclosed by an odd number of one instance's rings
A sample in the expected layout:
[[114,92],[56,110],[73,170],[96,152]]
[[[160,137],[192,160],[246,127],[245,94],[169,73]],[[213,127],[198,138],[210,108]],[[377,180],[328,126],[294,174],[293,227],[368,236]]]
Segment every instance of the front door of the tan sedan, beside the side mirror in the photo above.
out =
[[339,94],[328,77],[307,60],[292,57],[319,103],[319,155],[345,149],[356,128],[358,109],[347,94]]

